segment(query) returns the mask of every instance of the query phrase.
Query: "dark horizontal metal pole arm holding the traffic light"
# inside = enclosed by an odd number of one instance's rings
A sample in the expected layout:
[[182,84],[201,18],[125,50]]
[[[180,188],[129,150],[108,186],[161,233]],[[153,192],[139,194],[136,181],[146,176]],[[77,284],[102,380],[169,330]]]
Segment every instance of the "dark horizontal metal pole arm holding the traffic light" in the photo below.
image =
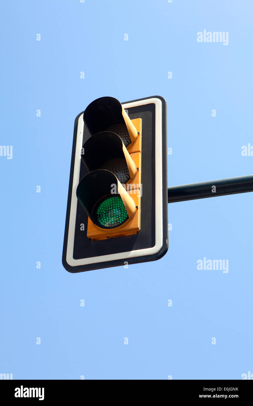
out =
[[168,188],[168,203],[245,192],[253,192],[253,175],[170,186]]

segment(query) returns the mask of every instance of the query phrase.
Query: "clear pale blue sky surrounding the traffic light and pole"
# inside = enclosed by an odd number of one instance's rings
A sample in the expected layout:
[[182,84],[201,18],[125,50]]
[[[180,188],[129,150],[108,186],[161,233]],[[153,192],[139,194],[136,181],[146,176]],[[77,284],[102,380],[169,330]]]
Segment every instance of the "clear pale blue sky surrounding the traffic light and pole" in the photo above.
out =
[[[0,373],[253,373],[252,193],[170,204],[160,261],[79,274],[61,263],[74,119],[97,97],[167,100],[171,186],[253,173],[253,156],[241,155],[253,145],[252,2],[30,0],[1,8],[0,144],[13,145],[13,158],[0,157]],[[228,45],[198,43],[204,29],[228,31]],[[228,259],[229,272],[197,270],[203,257]]]

